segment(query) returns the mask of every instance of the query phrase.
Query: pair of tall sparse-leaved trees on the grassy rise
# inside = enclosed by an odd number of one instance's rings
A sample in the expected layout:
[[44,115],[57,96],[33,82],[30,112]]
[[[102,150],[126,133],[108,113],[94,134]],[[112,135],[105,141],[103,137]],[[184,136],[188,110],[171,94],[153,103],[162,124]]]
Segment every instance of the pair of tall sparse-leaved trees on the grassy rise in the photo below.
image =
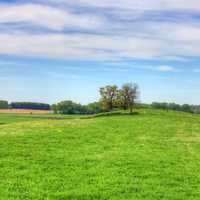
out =
[[104,111],[112,111],[115,108],[130,110],[133,112],[133,107],[138,99],[139,91],[137,84],[126,83],[118,88],[116,85],[107,85],[100,88],[100,103]]

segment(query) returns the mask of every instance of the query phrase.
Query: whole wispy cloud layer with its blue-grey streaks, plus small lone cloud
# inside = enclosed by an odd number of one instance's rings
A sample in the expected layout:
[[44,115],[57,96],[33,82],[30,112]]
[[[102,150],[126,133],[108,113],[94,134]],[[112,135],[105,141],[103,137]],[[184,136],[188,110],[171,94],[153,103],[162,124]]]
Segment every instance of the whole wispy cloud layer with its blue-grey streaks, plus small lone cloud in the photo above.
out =
[[[101,61],[198,57],[200,23],[191,11],[199,10],[194,0],[2,4],[0,28],[6,29],[0,34],[0,53]],[[49,30],[35,33],[36,28]]]

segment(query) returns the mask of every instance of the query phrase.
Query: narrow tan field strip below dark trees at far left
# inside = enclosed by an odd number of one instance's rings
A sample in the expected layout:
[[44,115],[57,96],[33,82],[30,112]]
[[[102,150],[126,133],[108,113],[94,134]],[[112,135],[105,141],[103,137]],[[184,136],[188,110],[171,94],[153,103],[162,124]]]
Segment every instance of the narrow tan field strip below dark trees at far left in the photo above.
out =
[[49,114],[49,110],[30,110],[30,109],[0,109],[0,113],[16,113],[16,114]]

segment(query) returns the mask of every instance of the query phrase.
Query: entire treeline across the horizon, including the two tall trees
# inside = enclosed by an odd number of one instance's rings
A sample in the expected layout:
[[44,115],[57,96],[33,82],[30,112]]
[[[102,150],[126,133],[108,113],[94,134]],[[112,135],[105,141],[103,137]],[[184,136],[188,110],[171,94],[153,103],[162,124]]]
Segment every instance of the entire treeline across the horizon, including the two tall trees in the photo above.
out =
[[174,110],[200,114],[200,105],[177,104],[166,102],[153,102],[142,104],[138,102],[139,89],[137,84],[126,83],[122,87],[107,85],[99,89],[100,100],[98,102],[82,105],[71,100],[61,101],[50,105],[37,102],[11,102],[0,100],[0,109],[31,109],[52,110],[57,114],[98,114],[117,110],[129,110],[134,108],[154,108],[162,110]]

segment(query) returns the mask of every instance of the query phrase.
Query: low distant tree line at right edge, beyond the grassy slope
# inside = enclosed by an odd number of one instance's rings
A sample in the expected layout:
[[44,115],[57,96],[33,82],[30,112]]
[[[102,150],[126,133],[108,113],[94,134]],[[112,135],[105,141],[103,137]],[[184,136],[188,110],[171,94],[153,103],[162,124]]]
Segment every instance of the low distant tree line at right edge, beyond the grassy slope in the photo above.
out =
[[180,105],[176,103],[153,102],[151,106],[152,108],[156,108],[156,109],[175,110],[175,111],[200,114],[200,105],[189,105],[189,104]]

